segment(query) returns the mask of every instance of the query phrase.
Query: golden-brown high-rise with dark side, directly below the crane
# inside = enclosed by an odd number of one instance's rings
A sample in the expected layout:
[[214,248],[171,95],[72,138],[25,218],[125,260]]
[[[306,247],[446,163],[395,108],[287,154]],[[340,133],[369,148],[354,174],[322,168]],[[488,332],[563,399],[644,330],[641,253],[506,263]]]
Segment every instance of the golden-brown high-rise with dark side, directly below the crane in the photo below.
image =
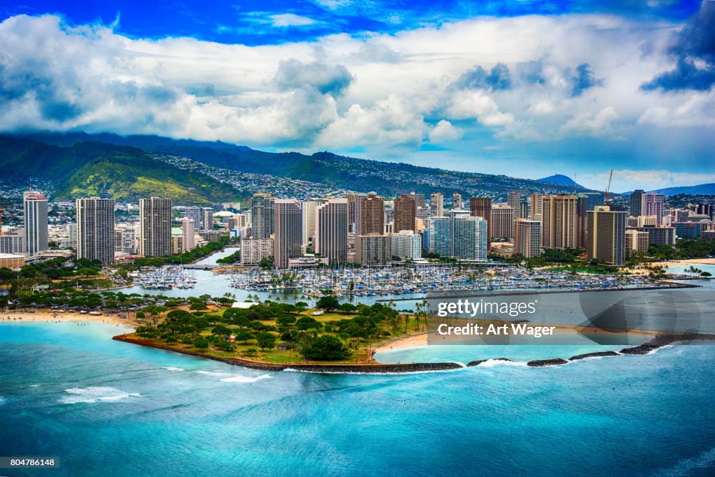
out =
[[628,212],[613,212],[608,205],[599,205],[587,213],[588,260],[596,259],[613,265],[623,265]]

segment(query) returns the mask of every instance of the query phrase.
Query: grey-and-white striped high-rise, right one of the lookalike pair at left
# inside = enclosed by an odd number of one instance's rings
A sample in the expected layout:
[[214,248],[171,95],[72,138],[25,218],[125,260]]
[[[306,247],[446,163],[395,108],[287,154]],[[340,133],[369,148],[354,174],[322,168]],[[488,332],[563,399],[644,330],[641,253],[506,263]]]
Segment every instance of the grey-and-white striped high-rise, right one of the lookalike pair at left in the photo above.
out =
[[139,254],[144,257],[172,255],[172,200],[139,199]]

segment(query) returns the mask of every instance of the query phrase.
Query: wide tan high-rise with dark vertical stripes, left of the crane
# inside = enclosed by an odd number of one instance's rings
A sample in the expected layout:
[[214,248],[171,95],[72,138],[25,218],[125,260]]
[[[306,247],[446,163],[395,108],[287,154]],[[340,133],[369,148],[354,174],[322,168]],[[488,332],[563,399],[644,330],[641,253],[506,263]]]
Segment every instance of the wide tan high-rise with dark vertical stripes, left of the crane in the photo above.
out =
[[583,246],[585,197],[544,195],[541,197],[541,246],[563,250]]

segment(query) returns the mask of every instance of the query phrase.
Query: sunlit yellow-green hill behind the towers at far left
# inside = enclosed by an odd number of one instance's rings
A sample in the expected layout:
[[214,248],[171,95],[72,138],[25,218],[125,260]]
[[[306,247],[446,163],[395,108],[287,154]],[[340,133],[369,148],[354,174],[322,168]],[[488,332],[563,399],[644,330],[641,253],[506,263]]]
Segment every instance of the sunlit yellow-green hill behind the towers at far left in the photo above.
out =
[[170,197],[177,204],[210,205],[240,200],[230,185],[200,172],[178,169],[136,147],[77,142],[69,147],[22,137],[0,136],[0,170],[6,180],[30,177],[56,185],[59,200],[99,195],[106,185],[112,197]]

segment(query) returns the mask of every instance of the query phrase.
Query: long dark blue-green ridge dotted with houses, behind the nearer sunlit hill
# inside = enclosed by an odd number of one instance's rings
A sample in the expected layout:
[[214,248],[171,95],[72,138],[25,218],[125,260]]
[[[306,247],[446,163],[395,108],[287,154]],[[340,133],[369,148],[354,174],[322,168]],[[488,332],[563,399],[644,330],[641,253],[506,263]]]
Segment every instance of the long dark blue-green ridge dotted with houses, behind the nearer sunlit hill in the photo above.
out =
[[[200,142],[188,139],[169,139],[157,136],[117,136],[116,134],[37,133],[28,136],[49,144],[68,146],[82,141],[101,141],[118,146],[132,146],[147,152],[173,154],[209,164],[253,174],[272,174],[294,180],[319,182],[332,187],[358,192],[375,191],[394,196],[405,192],[429,195],[442,192],[451,197],[458,192],[466,199],[487,195],[495,200],[506,200],[510,192],[556,193],[573,192],[573,182],[543,182],[518,179],[506,175],[455,172],[434,167],[415,166],[398,162],[356,159],[316,152],[263,152],[250,147],[225,142]],[[577,186],[580,192],[587,191]],[[260,191],[256,191],[260,192]]]

